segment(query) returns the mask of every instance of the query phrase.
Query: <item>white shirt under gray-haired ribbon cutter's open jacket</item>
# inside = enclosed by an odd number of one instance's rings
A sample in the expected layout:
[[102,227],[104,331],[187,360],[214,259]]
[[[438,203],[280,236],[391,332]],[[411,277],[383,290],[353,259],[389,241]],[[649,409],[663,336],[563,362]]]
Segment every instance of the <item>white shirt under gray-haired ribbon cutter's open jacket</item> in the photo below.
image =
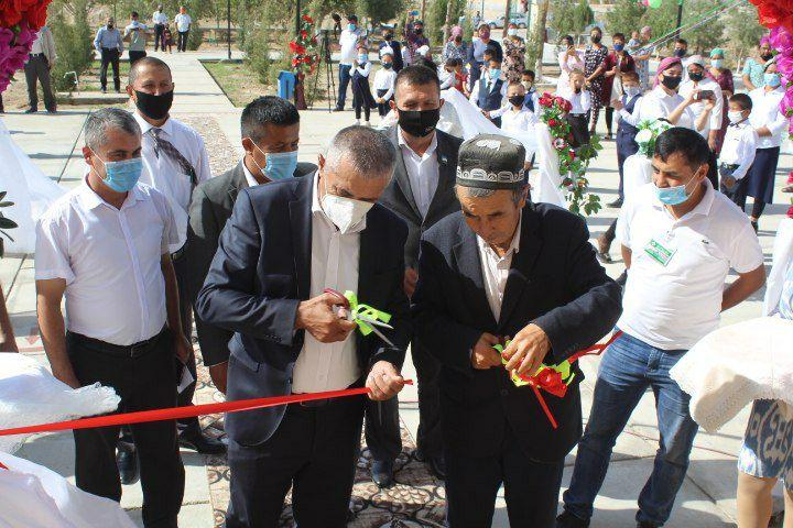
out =
[[[311,295],[323,289],[358,292],[360,232],[366,217],[348,233],[341,234],[319,205],[318,178],[314,176],[312,198]],[[357,331],[357,330],[356,330]],[[306,332],[303,350],[292,373],[294,393],[318,393],[347,388],[361,376],[355,331],[346,340],[321,343]]]

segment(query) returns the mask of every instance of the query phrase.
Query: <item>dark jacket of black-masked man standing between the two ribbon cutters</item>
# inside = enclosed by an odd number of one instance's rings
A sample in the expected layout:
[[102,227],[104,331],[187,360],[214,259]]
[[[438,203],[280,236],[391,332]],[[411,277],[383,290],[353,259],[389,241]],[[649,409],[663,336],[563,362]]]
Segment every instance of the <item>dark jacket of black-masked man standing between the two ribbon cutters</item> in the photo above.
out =
[[405,264],[409,267],[416,267],[419,263],[419,240],[424,231],[434,226],[438,220],[459,211],[459,202],[455,196],[455,182],[457,178],[457,153],[463,140],[436,130],[438,158],[438,186],[430,202],[430,209],[422,219],[419,207],[410,186],[408,169],[402,157],[402,150],[397,138],[397,127],[387,132],[397,148],[397,167],[391,183],[380,196],[380,204],[402,217],[408,223],[408,243],[405,244]]

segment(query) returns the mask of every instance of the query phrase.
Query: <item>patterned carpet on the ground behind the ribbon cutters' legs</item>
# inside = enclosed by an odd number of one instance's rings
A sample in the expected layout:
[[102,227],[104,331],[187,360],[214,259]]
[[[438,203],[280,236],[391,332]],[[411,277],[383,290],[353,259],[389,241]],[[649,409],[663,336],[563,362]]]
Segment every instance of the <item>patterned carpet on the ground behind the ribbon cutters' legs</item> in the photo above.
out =
[[[198,361],[198,386],[195,402],[209,404],[222,402],[222,395],[215,388],[209,378],[209,372],[200,360],[200,352],[196,350]],[[202,426],[207,435],[222,438],[222,416],[211,415],[200,418]],[[369,475],[370,455],[366,442],[361,438],[361,455],[358,460],[352,499],[350,501],[351,520],[348,524],[354,528],[413,528],[413,527],[442,527],[444,526],[445,492],[443,483],[435,479],[426,465],[415,460],[415,441],[408,429],[402,425],[402,454],[394,464],[397,484],[389,490],[380,490],[372,483]],[[215,525],[221,527],[226,507],[229,501],[229,471],[226,457],[207,457],[207,477],[209,480],[209,495],[215,512]],[[286,497],[286,505],[281,517],[284,528],[294,525],[292,520],[291,497]]]

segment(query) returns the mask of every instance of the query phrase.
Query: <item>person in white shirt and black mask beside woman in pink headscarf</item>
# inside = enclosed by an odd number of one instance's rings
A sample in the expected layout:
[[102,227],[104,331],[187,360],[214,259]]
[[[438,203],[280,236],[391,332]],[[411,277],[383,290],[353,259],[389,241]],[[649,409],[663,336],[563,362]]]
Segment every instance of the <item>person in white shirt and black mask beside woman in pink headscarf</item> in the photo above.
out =
[[[718,155],[716,147],[718,146],[718,135],[721,130],[721,120],[724,119],[724,96],[721,87],[706,75],[705,59],[702,55],[694,55],[686,62],[685,72],[688,74],[680,88],[680,95],[688,98],[691,94],[697,94],[692,103],[691,110],[695,118],[698,118],[706,111],[708,105],[704,99],[713,101],[713,109],[709,117],[705,120],[704,127],[698,130],[699,134],[705,138],[710,147],[710,160],[708,160],[708,179],[715,189],[718,189]],[[707,97],[705,97],[707,96]]]

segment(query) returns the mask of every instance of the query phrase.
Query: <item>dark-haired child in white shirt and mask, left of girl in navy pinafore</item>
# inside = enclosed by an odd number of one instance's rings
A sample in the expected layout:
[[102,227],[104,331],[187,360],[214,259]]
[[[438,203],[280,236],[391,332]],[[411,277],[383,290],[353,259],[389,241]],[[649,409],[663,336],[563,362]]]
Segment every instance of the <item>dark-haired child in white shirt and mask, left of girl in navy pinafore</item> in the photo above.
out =
[[721,175],[721,193],[732,201],[738,186],[747,184],[747,170],[754,162],[759,136],[754,128],[749,123],[749,114],[752,109],[752,100],[746,94],[736,94],[729,98],[729,112],[727,118],[730,124],[727,127],[721,154],[719,156],[719,174]]

